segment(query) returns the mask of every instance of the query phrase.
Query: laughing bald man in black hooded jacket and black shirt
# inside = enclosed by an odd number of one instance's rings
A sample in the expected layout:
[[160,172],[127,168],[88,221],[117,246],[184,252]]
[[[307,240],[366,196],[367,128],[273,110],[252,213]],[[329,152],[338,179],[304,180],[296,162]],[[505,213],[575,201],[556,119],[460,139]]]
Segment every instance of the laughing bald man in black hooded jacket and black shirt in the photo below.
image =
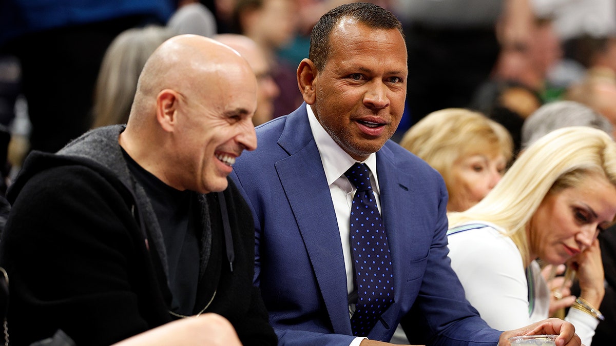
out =
[[12,344],[61,329],[77,345],[110,345],[208,313],[244,345],[276,344],[252,281],[253,217],[227,178],[256,148],[256,88],[235,50],[176,36],[145,64],[126,126],[31,153],[0,241]]

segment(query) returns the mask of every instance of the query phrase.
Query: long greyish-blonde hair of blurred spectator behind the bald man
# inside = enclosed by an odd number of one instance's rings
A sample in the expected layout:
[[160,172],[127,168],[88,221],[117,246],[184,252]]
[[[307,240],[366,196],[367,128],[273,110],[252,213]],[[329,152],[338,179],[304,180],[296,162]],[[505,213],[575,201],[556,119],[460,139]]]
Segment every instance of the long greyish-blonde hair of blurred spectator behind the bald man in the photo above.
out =
[[126,124],[146,60],[171,36],[165,26],[150,25],[123,31],[111,42],[94,89],[93,128]]

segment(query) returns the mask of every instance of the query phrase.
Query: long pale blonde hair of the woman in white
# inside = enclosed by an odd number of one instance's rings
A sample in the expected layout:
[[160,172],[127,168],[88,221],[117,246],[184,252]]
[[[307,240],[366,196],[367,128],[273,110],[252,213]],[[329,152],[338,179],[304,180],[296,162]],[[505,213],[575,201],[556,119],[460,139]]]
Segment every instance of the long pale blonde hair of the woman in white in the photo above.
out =
[[506,230],[528,265],[532,259],[525,230],[543,198],[580,186],[589,174],[601,174],[616,186],[616,143],[592,127],[557,129],[530,145],[479,203],[448,214],[450,227],[469,221],[494,223]]

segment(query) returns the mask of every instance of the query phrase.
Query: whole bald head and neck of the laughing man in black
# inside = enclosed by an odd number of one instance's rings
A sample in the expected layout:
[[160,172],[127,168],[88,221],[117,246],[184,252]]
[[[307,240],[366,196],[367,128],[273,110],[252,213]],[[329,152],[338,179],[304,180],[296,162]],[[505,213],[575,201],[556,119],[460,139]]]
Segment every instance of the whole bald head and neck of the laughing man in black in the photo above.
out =
[[235,158],[257,145],[256,89],[235,50],[203,36],[174,36],[145,63],[118,142],[176,190],[225,190]]

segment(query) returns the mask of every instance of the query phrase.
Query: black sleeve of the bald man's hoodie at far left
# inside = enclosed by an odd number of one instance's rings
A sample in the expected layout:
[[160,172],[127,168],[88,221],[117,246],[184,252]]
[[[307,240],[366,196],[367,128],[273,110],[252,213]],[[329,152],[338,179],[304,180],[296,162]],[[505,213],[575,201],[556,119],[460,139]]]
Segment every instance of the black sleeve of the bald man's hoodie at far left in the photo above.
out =
[[144,239],[127,225],[137,227],[130,208],[90,169],[49,169],[26,183],[0,249],[15,345],[57,329],[78,345],[109,345],[148,329],[129,284],[142,273],[128,265]]

